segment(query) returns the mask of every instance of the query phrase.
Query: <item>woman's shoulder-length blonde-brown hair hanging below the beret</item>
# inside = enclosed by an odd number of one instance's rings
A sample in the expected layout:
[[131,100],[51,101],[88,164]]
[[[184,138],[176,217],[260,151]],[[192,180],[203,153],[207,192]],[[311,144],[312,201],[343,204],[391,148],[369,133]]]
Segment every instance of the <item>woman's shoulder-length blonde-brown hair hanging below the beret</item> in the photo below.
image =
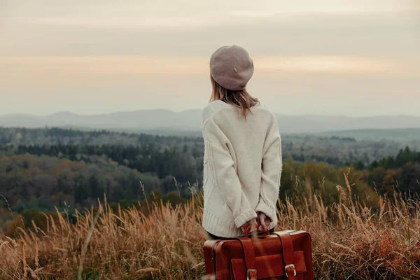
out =
[[251,112],[251,107],[259,104],[260,102],[255,97],[251,97],[246,91],[246,88],[243,90],[227,90],[225,87],[219,85],[213,76],[210,75],[211,86],[213,87],[213,92],[211,92],[211,97],[209,102],[215,100],[222,100],[228,104],[237,106],[241,110],[241,115],[246,119],[246,115]]

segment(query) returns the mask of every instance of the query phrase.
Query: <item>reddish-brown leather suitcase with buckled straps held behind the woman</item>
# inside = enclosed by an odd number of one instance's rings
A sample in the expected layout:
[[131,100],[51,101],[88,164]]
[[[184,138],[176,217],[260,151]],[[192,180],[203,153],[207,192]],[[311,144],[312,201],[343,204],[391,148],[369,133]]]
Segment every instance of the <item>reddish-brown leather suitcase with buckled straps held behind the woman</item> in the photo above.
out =
[[205,279],[314,279],[311,236],[302,230],[207,240],[203,249]]

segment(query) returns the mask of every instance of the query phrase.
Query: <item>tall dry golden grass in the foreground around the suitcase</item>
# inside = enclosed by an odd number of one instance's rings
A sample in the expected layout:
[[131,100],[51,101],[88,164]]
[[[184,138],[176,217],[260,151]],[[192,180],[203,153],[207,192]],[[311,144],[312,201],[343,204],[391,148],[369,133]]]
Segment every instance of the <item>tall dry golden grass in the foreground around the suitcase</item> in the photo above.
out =
[[[378,197],[379,208],[350,200],[325,206],[306,193],[279,202],[278,230],[307,230],[313,238],[316,279],[420,279],[420,203]],[[200,195],[177,207],[134,207],[48,219],[48,228],[0,237],[0,279],[200,279],[204,275]]]

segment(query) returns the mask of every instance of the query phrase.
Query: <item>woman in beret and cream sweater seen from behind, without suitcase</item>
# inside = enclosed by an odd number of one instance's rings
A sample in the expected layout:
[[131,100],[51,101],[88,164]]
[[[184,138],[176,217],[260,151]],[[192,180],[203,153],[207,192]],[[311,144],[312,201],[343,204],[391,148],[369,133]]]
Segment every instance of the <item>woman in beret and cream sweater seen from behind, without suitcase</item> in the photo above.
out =
[[243,236],[257,221],[251,232],[273,232],[281,175],[276,117],[246,91],[253,61],[244,48],[216,50],[210,73],[213,93],[202,111],[202,226],[212,239]]

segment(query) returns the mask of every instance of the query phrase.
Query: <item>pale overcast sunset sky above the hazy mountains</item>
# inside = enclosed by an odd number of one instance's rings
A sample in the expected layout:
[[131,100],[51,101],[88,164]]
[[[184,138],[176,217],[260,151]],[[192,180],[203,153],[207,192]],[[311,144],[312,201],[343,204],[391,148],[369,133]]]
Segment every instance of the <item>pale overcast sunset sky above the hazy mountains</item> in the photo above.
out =
[[232,44],[276,113],[420,116],[416,0],[0,0],[0,115],[202,109]]

